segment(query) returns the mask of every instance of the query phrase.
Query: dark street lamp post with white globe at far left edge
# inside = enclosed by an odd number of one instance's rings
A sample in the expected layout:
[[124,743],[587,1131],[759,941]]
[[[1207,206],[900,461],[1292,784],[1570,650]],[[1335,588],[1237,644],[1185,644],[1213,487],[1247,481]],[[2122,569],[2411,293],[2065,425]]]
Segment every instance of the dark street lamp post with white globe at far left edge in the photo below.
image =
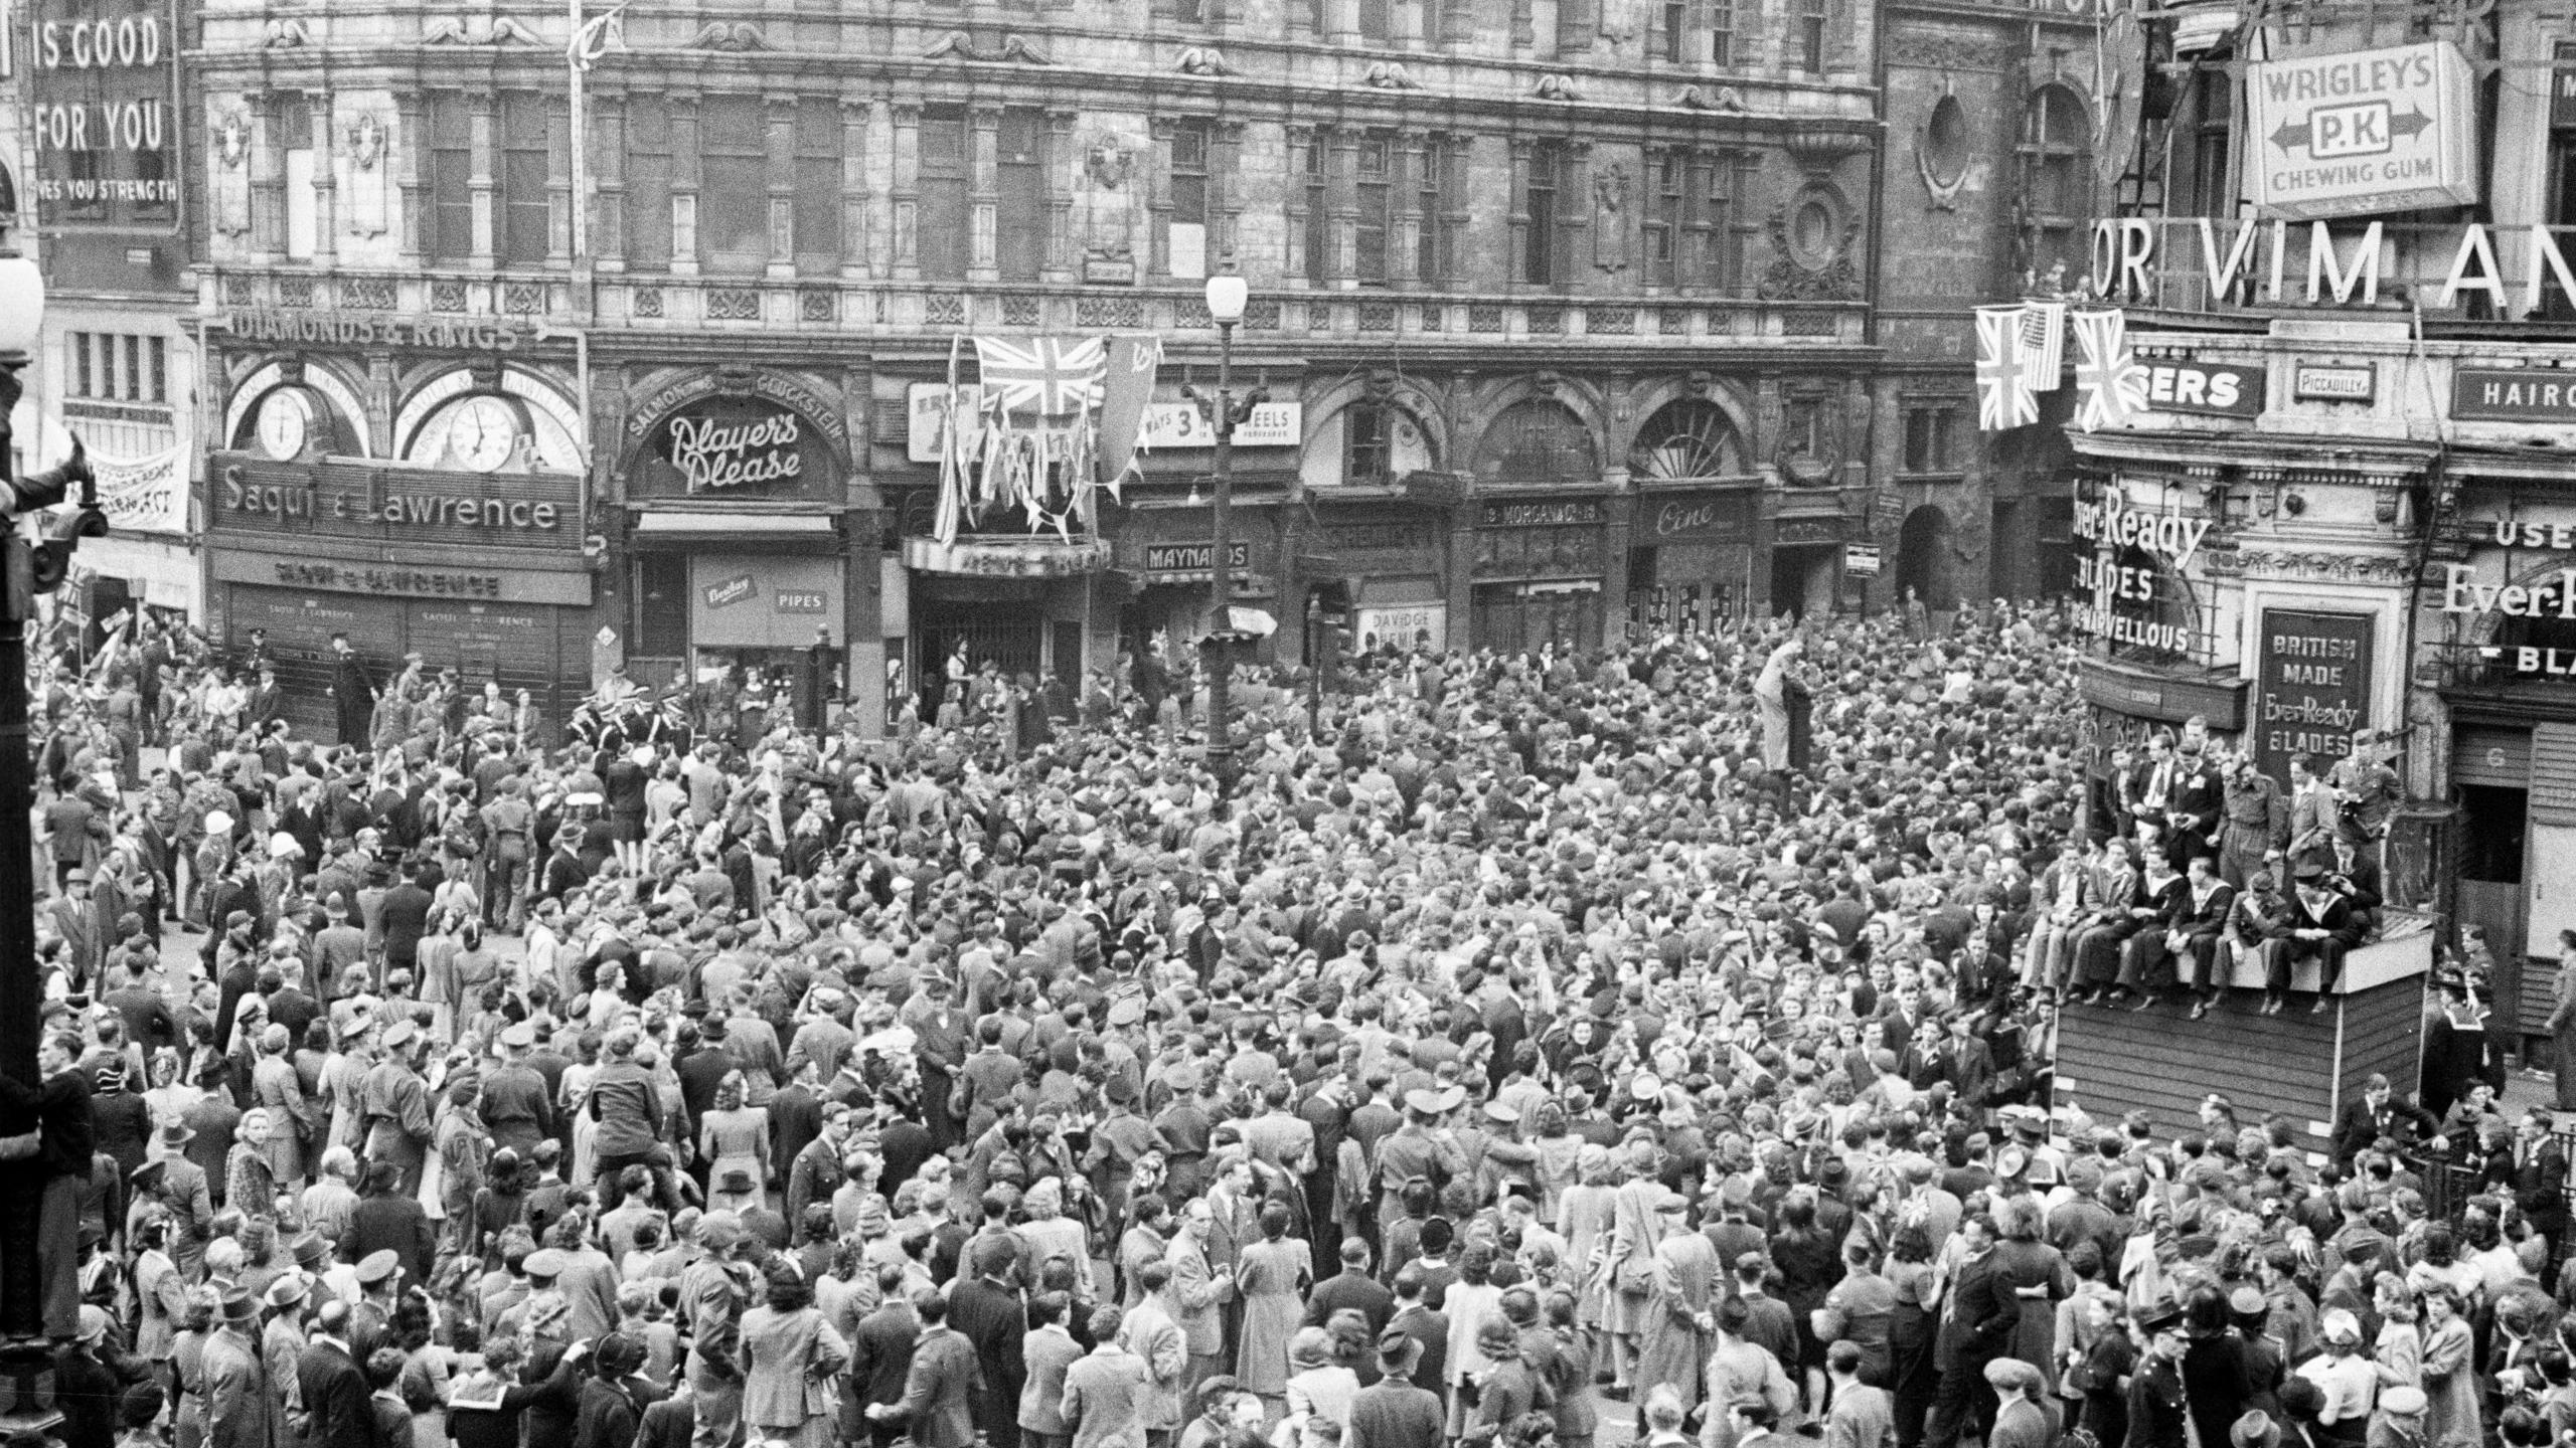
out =
[[[15,477],[10,415],[23,368],[44,335],[44,273],[0,237],[0,1074],[36,1090],[36,1038],[44,1031],[44,982],[36,979],[36,760],[26,727],[26,624],[36,595],[62,585],[72,546],[106,533],[90,466],[80,443],[72,459],[36,477]],[[39,510],[80,484],[67,518]],[[31,1123],[18,1123],[13,1131]],[[44,1175],[18,1162],[0,1170],[0,1433],[49,1427],[54,1353],[44,1337],[44,1278],[36,1242],[44,1224]]]

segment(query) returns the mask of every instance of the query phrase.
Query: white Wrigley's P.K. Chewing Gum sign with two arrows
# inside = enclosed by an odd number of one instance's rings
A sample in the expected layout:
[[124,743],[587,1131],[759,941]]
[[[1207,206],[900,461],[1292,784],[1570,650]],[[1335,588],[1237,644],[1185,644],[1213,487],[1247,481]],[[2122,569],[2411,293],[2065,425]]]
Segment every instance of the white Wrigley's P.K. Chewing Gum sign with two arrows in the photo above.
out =
[[2370,216],[2478,198],[2476,77],[2427,41],[2246,67],[2246,191],[2267,216]]

